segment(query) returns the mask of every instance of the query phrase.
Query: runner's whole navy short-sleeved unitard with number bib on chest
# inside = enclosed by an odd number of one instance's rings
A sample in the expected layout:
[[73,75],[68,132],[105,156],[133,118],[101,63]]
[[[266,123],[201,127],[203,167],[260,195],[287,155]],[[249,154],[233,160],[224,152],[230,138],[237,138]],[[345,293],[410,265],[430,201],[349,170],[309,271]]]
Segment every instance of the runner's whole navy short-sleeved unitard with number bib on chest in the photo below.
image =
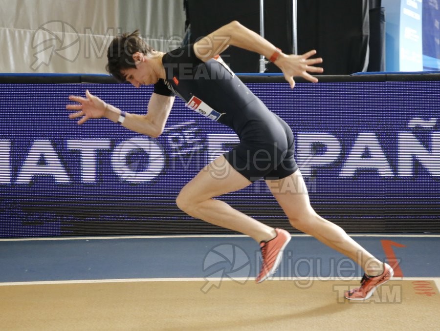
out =
[[231,127],[240,143],[224,157],[244,177],[281,179],[298,169],[290,127],[226,65],[202,62],[193,44],[166,53],[162,63],[166,80],[154,85],[154,93],[176,94],[199,114]]

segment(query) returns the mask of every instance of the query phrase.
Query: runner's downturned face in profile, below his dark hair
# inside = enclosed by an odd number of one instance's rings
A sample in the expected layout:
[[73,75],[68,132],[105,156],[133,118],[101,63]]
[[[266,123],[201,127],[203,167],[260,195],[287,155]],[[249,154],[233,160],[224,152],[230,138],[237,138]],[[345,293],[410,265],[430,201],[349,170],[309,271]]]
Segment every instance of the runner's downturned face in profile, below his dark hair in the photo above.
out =
[[136,68],[121,70],[122,75],[125,76],[129,83],[135,87],[157,83],[159,77],[154,70],[154,61],[152,59],[148,59],[142,53],[135,53],[133,54],[133,60]]

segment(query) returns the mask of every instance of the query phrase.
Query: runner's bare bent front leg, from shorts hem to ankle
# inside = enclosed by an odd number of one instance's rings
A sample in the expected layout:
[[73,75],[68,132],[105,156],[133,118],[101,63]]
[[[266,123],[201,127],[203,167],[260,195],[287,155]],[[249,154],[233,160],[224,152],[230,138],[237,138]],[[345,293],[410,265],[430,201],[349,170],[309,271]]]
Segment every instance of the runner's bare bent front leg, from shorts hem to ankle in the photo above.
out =
[[243,214],[223,201],[213,199],[242,189],[251,183],[235,170],[224,156],[220,156],[206,165],[182,188],[176,204],[190,216],[244,233],[259,243],[268,241],[276,236],[274,228]]

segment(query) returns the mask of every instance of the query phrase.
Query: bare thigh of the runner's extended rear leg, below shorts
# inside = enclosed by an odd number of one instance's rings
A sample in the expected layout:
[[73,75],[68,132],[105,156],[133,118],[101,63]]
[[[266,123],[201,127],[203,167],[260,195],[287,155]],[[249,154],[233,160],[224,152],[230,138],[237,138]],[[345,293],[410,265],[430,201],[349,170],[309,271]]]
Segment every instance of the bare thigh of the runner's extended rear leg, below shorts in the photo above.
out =
[[299,169],[285,178],[266,180],[266,184],[287,217],[296,218],[313,210],[306,183]]

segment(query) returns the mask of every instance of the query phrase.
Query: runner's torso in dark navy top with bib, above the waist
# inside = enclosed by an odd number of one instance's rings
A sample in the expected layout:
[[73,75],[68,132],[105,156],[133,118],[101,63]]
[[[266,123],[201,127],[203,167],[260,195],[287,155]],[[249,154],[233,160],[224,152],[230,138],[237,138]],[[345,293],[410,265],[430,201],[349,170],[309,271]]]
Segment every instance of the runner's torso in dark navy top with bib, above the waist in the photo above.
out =
[[[167,87],[199,114],[231,127],[239,136],[248,123],[274,119],[264,104],[235,76],[214,59],[199,60],[193,45],[163,56]],[[267,124],[267,123],[266,123]]]

